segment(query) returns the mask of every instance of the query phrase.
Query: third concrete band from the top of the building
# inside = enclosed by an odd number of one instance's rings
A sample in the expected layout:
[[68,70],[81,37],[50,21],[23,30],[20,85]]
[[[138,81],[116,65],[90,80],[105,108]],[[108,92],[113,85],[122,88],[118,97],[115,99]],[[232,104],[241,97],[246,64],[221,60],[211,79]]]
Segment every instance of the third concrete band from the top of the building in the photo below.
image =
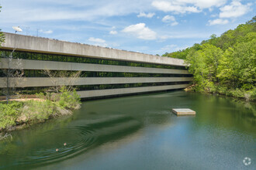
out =
[[[96,85],[119,83],[161,83],[192,81],[192,77],[79,77],[79,78],[50,78],[28,77],[10,78],[10,87],[51,87],[62,85]],[[0,87],[6,87],[6,78],[0,78]]]

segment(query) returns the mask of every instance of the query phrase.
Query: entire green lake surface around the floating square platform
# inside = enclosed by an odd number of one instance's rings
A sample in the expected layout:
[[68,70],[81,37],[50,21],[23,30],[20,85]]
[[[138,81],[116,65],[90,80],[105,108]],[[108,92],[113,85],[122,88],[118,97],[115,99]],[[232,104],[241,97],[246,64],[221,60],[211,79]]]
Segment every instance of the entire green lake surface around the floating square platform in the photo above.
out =
[[184,91],[89,100],[0,141],[0,169],[256,169],[255,117],[255,103]]

